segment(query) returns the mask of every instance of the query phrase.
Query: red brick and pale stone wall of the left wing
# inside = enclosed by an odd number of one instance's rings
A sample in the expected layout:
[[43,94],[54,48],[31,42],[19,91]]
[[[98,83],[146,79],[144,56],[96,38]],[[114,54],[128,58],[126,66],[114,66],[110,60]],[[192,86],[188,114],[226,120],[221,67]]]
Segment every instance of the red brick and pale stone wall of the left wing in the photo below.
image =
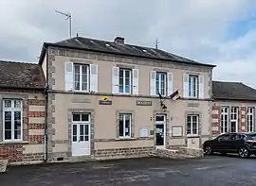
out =
[[[44,161],[44,128],[46,101],[43,93],[0,93],[3,98],[23,99],[23,140],[7,142],[0,136],[0,160],[9,163]],[[1,98],[1,97],[0,97]],[[0,100],[1,101],[1,100]],[[2,101],[1,101],[2,103]],[[2,113],[2,105],[1,105]],[[1,118],[2,119],[2,118]],[[1,134],[3,126],[0,127]]]

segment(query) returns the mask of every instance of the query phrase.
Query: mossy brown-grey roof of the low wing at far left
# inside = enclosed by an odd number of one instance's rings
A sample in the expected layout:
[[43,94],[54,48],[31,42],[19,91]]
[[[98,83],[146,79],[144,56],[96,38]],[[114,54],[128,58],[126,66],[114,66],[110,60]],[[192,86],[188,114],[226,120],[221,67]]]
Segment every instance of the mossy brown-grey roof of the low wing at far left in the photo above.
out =
[[0,60],[0,88],[44,89],[45,86],[41,65]]

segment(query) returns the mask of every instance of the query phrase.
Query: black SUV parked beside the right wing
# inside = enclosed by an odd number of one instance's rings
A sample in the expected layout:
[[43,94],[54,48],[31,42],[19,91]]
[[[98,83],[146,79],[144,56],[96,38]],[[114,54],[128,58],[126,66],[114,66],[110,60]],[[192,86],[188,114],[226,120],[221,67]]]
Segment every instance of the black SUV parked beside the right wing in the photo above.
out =
[[256,133],[232,132],[221,134],[203,144],[204,152],[210,155],[214,152],[238,153],[241,158],[256,155]]

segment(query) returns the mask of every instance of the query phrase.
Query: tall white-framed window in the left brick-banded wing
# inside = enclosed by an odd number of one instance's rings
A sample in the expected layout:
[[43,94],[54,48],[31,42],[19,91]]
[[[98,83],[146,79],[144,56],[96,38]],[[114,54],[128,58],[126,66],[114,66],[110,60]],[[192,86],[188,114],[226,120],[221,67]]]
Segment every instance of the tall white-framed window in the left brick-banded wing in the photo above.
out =
[[21,141],[22,135],[22,100],[3,100],[3,139]]

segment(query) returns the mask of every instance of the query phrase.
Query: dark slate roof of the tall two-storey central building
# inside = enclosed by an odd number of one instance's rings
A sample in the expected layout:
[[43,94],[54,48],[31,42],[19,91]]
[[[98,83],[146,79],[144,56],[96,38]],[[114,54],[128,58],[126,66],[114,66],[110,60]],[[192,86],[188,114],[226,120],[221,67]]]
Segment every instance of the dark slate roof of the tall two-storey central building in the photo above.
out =
[[[202,65],[215,67],[215,65],[200,63],[192,59],[186,59],[174,54],[165,52],[163,50],[149,48],[144,46],[137,46],[132,44],[118,44],[116,42],[102,41],[90,38],[75,37],[62,42],[45,42],[44,46],[60,46],[65,48],[82,49],[102,53],[118,54],[124,56],[146,58],[146,59],[161,59],[166,61],[174,61],[180,63],[187,63],[193,65]],[[44,51],[44,47],[43,47]],[[41,54],[42,57],[42,54]],[[41,63],[41,62],[39,62]]]

